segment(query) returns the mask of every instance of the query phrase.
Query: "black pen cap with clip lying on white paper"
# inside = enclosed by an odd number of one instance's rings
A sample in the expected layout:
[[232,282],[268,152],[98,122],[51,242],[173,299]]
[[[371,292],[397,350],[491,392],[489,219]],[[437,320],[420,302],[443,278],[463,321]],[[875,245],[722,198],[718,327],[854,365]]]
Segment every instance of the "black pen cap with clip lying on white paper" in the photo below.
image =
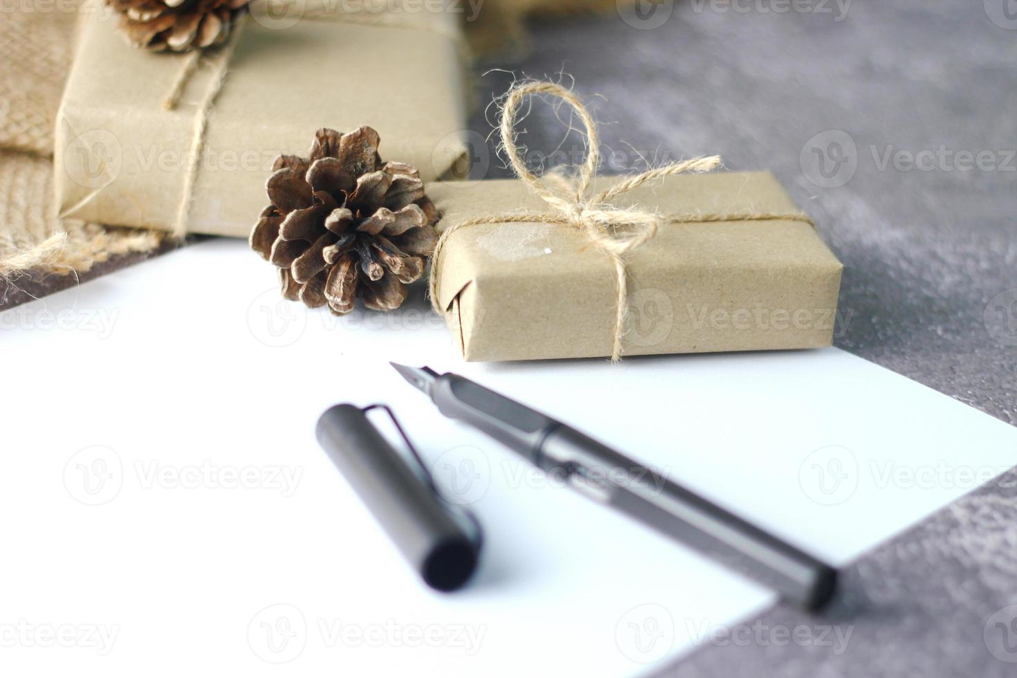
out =
[[328,457],[424,581],[438,591],[462,587],[477,566],[479,531],[440,498],[426,470],[411,466],[365,411],[352,405],[325,411],[316,433]]

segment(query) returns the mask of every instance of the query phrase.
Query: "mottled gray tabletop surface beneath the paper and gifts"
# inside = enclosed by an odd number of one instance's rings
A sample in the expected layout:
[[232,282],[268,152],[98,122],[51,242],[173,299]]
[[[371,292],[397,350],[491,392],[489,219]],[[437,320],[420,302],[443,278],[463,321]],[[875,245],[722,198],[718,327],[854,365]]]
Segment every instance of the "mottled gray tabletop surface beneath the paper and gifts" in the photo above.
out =
[[[802,11],[779,11],[792,7]],[[717,152],[732,170],[773,171],[846,265],[837,345],[1017,424],[1015,3],[646,9],[629,22],[534,25],[534,51],[515,68],[564,69],[579,94],[605,98],[594,104],[610,123],[601,129],[610,169],[637,165],[638,151]],[[481,101],[508,80],[481,78]],[[549,127],[539,111],[533,120],[531,130]],[[476,173],[505,176],[483,143],[482,113],[471,126]],[[522,140],[539,153],[560,134]],[[572,143],[561,148],[572,153]],[[744,620],[762,641],[708,642],[660,675],[1017,675],[1015,484],[1012,472],[861,558],[824,615],[763,611]],[[775,635],[798,626],[815,641]],[[827,627],[831,641],[821,642]],[[838,632],[850,632],[846,643]]]

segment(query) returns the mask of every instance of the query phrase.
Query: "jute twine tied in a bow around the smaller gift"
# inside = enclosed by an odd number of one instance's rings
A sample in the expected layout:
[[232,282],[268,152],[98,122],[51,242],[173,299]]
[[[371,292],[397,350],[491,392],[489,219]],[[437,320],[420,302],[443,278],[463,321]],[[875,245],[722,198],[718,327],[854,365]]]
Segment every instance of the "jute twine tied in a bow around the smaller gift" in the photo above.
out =
[[[532,95],[548,95],[560,99],[576,111],[586,128],[588,139],[586,161],[580,166],[575,181],[572,182],[572,189],[567,191],[566,196],[559,195],[547,188],[541,183],[540,177],[527,169],[520,148],[516,144],[516,115],[526,98]],[[720,166],[720,157],[718,156],[695,158],[653,168],[642,174],[627,177],[595,196],[588,196],[590,183],[600,166],[600,137],[597,133],[597,125],[589,110],[572,91],[553,82],[526,82],[514,86],[505,96],[504,105],[501,108],[499,129],[502,148],[508,157],[513,172],[529,186],[531,191],[550,205],[551,211],[548,213],[528,211],[492,214],[458,222],[445,229],[434,247],[429,279],[431,306],[439,314],[444,313],[437,295],[441,252],[454,234],[481,224],[552,224],[575,228],[610,257],[614,268],[616,302],[611,361],[617,362],[621,359],[629,309],[629,269],[625,256],[652,240],[662,225],[732,221],[795,221],[813,224],[806,214],[797,211],[659,214],[636,206],[619,207],[611,203],[618,196],[663,177],[682,173],[709,172],[716,169]],[[554,176],[554,178],[555,182],[553,183],[559,187],[567,186],[567,183],[561,181],[559,175]]]

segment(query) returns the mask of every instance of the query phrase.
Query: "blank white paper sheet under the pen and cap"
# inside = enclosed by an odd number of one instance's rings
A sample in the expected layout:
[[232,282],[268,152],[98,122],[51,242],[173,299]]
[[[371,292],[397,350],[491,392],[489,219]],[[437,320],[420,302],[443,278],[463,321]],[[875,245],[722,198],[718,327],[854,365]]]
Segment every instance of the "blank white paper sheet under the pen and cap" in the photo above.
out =
[[[837,350],[467,365],[421,298],[305,311],[238,242],[0,314],[0,345],[4,675],[624,676],[772,602],[444,420],[390,360],[546,410],[838,564],[1017,464],[1014,428]],[[468,589],[426,590],[318,448],[340,402],[392,405],[478,513]]]

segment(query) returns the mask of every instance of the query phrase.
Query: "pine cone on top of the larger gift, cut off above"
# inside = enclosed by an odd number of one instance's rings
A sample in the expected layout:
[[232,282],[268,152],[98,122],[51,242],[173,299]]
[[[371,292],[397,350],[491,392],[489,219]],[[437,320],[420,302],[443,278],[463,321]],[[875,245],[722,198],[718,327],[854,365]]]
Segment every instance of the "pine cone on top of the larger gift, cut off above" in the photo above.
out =
[[187,52],[226,42],[250,0],[105,0],[120,13],[127,42],[161,52]]

